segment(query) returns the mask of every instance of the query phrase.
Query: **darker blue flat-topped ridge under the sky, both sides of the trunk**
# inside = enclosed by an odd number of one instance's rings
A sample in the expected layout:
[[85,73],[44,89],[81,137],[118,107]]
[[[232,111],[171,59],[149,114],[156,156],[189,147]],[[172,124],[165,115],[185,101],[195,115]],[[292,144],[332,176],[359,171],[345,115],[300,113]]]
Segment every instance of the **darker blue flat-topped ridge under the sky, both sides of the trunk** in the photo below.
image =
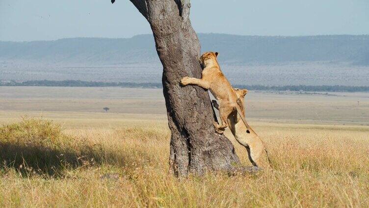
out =
[[[369,65],[369,35],[241,36],[199,34],[202,51],[217,51],[226,64],[344,62]],[[158,63],[153,36],[67,38],[55,41],[0,42],[0,60],[117,65]]]

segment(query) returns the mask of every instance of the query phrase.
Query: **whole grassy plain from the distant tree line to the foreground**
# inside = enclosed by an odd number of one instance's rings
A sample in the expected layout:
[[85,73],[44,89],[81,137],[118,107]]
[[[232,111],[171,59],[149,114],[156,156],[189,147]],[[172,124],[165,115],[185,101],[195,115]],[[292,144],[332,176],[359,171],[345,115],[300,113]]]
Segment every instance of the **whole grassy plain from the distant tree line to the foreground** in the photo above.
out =
[[161,89],[0,87],[0,207],[369,207],[369,93],[245,103],[271,168],[177,179]]

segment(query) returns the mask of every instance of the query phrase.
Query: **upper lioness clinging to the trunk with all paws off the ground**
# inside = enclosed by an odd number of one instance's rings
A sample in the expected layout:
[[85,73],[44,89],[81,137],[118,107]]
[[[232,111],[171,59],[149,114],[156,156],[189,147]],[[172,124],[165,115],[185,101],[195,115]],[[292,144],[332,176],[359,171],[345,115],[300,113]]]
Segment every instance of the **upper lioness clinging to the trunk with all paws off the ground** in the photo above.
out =
[[[223,75],[222,71],[220,71],[218,61],[216,60],[218,54],[218,52],[205,52],[200,58],[201,64],[204,66],[202,78],[185,77],[181,79],[181,83],[183,85],[195,84],[204,89],[210,89],[211,93],[219,101],[221,125],[214,122],[216,132],[221,134],[224,129],[228,127],[227,118],[235,109],[237,109],[237,112],[246,128],[249,129],[249,125],[237,104],[237,95],[235,90]],[[249,131],[247,130],[247,132]]]

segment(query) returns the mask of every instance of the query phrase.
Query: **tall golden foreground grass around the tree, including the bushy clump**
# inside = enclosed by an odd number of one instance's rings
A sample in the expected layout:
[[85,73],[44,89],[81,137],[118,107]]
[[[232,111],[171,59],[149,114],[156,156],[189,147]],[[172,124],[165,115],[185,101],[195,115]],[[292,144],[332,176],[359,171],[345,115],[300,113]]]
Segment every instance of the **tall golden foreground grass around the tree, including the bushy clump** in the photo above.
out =
[[[255,129],[272,170],[178,180],[168,173],[170,132],[162,125],[63,130],[25,118],[0,128],[0,156],[7,160],[0,207],[369,207],[368,127]],[[227,135],[249,165],[244,148]]]

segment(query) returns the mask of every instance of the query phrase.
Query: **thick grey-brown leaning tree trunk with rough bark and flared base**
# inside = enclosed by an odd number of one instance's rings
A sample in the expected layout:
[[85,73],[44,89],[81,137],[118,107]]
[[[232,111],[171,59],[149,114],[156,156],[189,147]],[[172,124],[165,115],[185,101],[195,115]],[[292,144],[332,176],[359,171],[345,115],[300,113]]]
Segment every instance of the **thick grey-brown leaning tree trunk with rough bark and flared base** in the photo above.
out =
[[240,164],[232,143],[213,127],[207,91],[181,86],[183,77],[201,78],[200,43],[189,21],[189,0],[131,0],[153,30],[163,65],[163,93],[172,136],[170,171],[177,177],[231,171]]

